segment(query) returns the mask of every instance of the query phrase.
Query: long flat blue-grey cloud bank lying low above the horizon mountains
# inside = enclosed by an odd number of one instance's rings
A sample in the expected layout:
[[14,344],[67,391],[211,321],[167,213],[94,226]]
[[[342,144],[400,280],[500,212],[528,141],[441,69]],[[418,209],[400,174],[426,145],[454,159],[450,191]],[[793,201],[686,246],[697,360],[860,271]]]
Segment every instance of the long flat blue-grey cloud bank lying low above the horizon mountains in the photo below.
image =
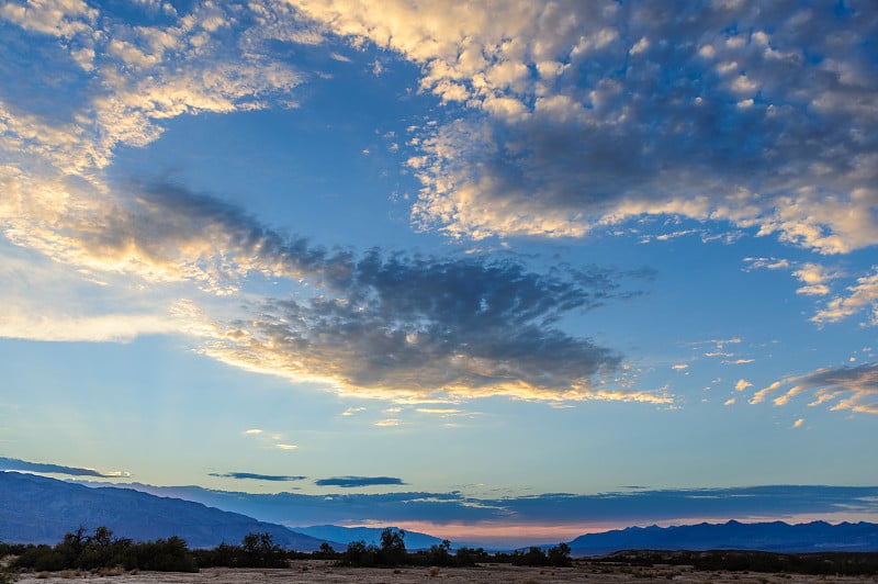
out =
[[[347,478],[330,479],[345,481]],[[354,480],[356,482],[356,480]],[[393,483],[399,484],[399,483]],[[285,525],[649,525],[708,518],[765,520],[808,517],[837,520],[878,514],[878,486],[765,485],[725,488],[627,490],[589,495],[539,494],[475,497],[461,492],[247,494],[201,488],[145,487]],[[329,484],[327,486],[341,486]],[[357,483],[356,486],[362,486]]]

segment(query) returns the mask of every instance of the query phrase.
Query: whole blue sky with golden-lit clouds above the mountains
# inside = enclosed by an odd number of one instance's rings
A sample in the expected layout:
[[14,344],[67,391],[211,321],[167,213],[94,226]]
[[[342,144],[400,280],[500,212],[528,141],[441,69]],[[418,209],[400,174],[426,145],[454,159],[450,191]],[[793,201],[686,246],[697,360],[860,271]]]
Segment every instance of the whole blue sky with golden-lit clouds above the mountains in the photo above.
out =
[[9,0],[0,56],[2,468],[878,517],[870,0]]

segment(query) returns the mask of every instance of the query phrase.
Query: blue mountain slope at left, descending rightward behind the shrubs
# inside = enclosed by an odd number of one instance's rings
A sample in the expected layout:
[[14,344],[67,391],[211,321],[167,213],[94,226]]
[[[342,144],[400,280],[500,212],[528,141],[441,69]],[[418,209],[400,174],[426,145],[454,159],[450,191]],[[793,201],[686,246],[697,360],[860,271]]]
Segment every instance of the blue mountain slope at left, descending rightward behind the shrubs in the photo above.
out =
[[274,543],[299,551],[317,550],[324,541],[201,503],[0,472],[1,541],[54,544],[80,526],[89,531],[106,526],[137,541],[179,536],[192,548],[240,543],[251,532],[269,532]]

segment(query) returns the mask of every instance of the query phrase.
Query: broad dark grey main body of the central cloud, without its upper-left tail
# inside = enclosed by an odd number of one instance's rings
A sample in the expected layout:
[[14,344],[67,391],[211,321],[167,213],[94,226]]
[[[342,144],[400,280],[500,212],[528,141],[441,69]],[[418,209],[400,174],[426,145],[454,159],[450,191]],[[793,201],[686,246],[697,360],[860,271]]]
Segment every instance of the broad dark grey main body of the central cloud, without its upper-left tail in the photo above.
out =
[[[333,277],[334,295],[277,300],[248,330],[252,357],[289,357],[346,386],[414,392],[460,389],[533,396],[585,390],[620,356],[552,324],[623,295],[605,270],[540,274],[516,261],[382,257],[371,251]],[[239,353],[238,353],[239,355]]]

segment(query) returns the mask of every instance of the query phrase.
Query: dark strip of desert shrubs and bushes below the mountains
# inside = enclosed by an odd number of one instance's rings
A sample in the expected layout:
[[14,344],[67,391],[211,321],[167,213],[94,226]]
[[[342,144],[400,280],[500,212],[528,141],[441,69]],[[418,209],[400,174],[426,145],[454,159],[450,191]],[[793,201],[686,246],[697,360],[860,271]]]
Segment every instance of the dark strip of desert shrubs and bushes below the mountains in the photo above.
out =
[[[56,546],[0,543],[0,558],[5,559],[0,584],[14,582],[20,575],[25,580],[43,580],[49,577],[44,574],[52,573],[59,574],[60,579],[91,574],[124,576],[125,582],[158,582],[153,576],[138,574],[142,571],[198,572],[200,569],[218,570],[221,572],[215,575],[228,574],[223,577],[228,577],[229,582],[236,582],[234,574],[261,582],[260,579],[268,579],[271,573],[279,577],[280,574],[304,576],[307,573],[306,581],[313,582],[371,582],[374,577],[376,582],[409,582],[420,581],[425,575],[442,575],[446,580],[461,582],[496,581],[494,576],[537,582],[543,581],[543,576],[556,582],[656,577],[693,582],[791,582],[798,579],[846,582],[878,574],[878,552],[632,550],[577,560],[570,553],[565,543],[514,552],[489,553],[481,548],[452,551],[447,540],[427,550],[408,551],[405,531],[390,528],[382,532],[380,544],[354,541],[344,551],[333,549],[329,543],[314,552],[286,550],[277,546],[269,534],[249,534],[238,544],[221,543],[213,549],[191,550],[177,537],[134,542],[116,538],[110,529],[99,527],[93,534],[82,528],[69,532]],[[701,575],[707,580],[698,580]]]

